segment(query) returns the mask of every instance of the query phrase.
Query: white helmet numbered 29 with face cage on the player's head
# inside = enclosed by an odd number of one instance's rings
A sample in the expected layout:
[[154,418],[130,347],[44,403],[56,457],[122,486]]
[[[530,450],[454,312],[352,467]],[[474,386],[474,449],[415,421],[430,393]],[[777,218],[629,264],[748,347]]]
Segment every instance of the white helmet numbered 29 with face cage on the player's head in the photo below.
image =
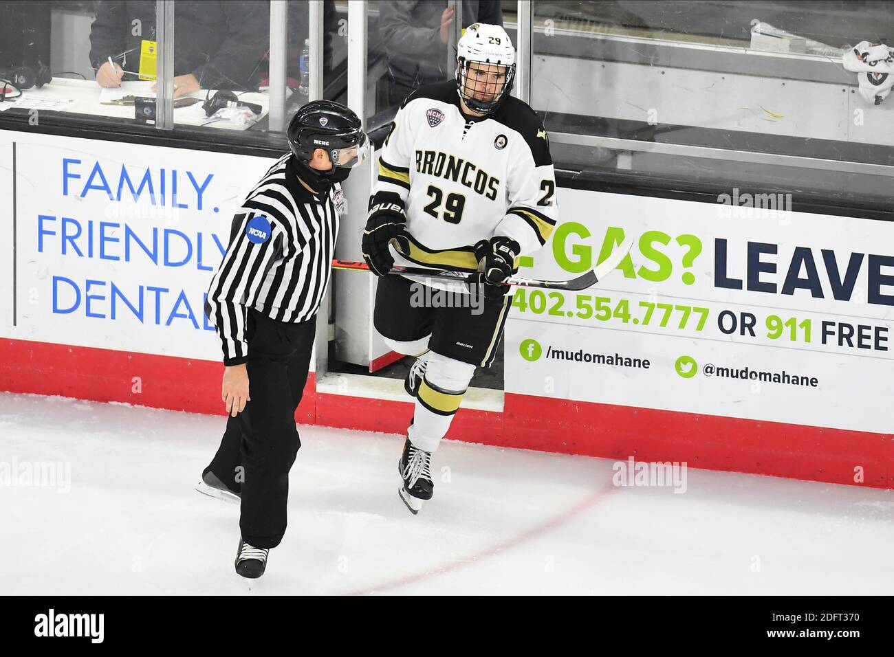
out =
[[[509,96],[515,79],[515,48],[499,25],[469,25],[457,43],[456,63],[456,85],[470,109],[490,114]],[[477,65],[470,77],[472,63]],[[488,84],[493,73],[504,76],[502,82]]]

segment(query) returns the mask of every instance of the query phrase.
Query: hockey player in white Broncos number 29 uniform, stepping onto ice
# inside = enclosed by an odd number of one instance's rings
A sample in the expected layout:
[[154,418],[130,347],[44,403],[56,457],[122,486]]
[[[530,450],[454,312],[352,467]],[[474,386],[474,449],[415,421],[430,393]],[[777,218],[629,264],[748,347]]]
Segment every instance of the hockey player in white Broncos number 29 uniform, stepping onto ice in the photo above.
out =
[[[363,256],[381,278],[375,328],[417,356],[405,387],[416,398],[400,460],[399,493],[414,514],[431,499],[431,457],[477,366],[490,366],[510,307],[516,260],[544,245],[556,223],[546,131],[510,97],[515,50],[505,30],[476,23],[457,45],[455,80],[418,89],[384,141],[369,202]],[[482,312],[469,304],[414,307],[420,282],[392,265],[478,272]],[[439,304],[443,305],[443,304]]]

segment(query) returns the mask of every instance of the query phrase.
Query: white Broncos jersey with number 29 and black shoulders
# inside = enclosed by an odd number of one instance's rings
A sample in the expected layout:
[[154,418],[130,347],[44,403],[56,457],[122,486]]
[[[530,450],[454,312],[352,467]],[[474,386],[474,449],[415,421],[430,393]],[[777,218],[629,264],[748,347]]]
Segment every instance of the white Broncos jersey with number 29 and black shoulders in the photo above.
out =
[[534,110],[508,97],[492,114],[465,117],[449,81],[418,89],[394,117],[370,206],[406,211],[409,252],[396,253],[396,265],[472,272],[479,240],[505,235],[519,255],[542,247],[556,223],[555,190]]

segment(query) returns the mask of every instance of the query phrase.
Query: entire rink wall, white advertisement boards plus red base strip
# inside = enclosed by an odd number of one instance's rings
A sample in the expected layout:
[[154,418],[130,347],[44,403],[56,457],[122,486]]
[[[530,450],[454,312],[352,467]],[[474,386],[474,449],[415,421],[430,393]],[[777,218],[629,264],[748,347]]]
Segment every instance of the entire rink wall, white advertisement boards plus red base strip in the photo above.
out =
[[[203,295],[272,161],[0,132],[0,389],[221,413]],[[561,189],[521,275],[635,246],[590,290],[516,292],[504,408],[461,409],[450,437],[890,487],[894,226],[752,200]],[[411,412],[311,375],[297,418],[401,432]]]

